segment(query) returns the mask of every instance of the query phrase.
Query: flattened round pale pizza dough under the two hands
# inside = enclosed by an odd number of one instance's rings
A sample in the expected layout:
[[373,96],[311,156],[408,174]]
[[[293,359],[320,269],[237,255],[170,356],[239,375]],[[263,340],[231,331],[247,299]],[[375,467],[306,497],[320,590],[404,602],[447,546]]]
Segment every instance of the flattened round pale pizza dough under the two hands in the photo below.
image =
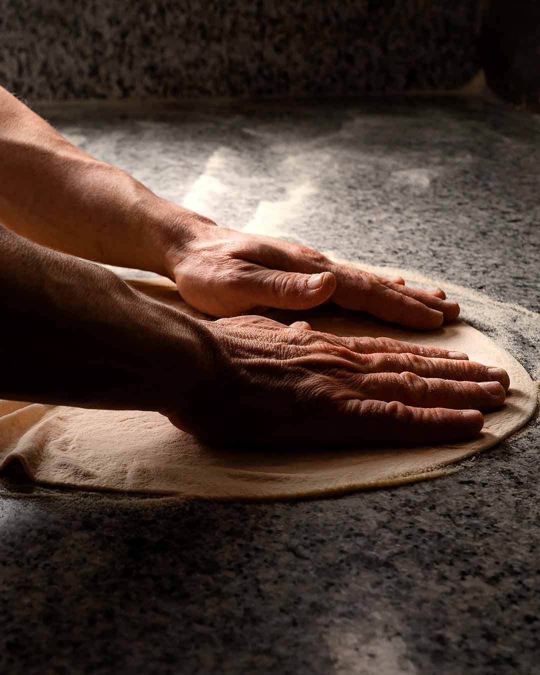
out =
[[[166,279],[133,280],[163,302],[187,306]],[[0,469],[22,463],[45,485],[198,497],[278,499],[397,485],[437,475],[441,467],[490,448],[520,429],[536,407],[536,387],[508,352],[458,321],[429,333],[403,329],[330,305],[302,312],[268,313],[292,323],[300,316],[313,329],[336,335],[385,335],[407,342],[466,352],[470,360],[503,367],[510,375],[506,405],[485,415],[482,435],[471,441],[401,448],[360,445],[343,450],[299,451],[283,443],[261,451],[209,447],[175,429],[157,412],[86,410],[0,402]]]

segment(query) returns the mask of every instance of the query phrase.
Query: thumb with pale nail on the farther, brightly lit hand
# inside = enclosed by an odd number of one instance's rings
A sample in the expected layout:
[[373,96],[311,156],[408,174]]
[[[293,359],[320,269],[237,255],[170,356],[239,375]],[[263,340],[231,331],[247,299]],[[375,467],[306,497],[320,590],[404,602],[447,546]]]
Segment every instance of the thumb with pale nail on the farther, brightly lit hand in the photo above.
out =
[[301,274],[277,269],[261,269],[252,281],[250,291],[257,295],[257,302],[278,309],[315,307],[329,300],[337,285],[331,272]]

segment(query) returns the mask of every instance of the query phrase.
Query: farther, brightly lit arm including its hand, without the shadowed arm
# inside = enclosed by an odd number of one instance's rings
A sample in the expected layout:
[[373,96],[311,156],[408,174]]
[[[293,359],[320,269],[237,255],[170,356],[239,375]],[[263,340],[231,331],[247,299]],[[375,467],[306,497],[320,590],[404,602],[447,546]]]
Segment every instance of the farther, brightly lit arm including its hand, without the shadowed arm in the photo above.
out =
[[420,329],[459,314],[441,290],[408,288],[305,246],[217,227],[76,148],[2,88],[0,158],[0,222],[86,259],[166,275],[207,314],[332,300]]

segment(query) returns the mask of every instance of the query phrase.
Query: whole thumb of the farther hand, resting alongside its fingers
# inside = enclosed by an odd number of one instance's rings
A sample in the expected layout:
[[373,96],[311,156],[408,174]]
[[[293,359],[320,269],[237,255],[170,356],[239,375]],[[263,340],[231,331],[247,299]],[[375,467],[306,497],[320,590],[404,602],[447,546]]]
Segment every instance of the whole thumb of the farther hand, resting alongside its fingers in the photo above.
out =
[[328,300],[335,291],[331,272],[303,274],[268,269],[245,263],[234,277],[231,292],[246,306],[263,305],[278,309],[308,309]]

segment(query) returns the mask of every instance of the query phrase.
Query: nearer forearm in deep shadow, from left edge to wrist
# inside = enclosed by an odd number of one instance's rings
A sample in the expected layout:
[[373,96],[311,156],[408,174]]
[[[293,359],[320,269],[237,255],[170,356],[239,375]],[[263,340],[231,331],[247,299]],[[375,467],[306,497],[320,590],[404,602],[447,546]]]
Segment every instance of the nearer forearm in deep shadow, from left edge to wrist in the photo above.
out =
[[161,410],[203,373],[205,322],[150,300],[107,269],[0,226],[0,398]]

